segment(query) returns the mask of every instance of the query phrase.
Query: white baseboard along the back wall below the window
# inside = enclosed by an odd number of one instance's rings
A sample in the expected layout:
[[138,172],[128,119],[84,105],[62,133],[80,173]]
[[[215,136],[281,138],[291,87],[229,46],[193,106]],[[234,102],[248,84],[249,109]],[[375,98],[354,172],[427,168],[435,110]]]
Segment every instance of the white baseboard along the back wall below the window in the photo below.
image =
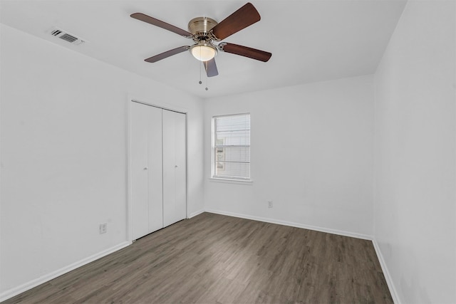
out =
[[237,214],[237,213],[233,213],[233,212],[213,210],[213,209],[206,209],[204,211],[214,213],[214,214],[222,214],[222,215],[227,215],[227,216],[239,217],[242,219],[253,219],[254,221],[264,221],[266,223],[271,223],[271,224],[279,224],[279,225],[284,225],[284,226],[291,226],[291,227],[296,227],[296,228],[321,231],[321,232],[326,232],[328,234],[338,234],[339,236],[350,236],[350,237],[356,238],[356,239],[363,239],[363,240],[369,240],[369,241],[373,240],[373,236],[369,236],[367,234],[357,234],[356,232],[342,231],[342,230],[337,230],[337,229],[328,229],[328,228],[323,228],[323,227],[318,227],[318,226],[294,223],[291,221],[281,221],[278,219],[269,219],[269,218],[265,218],[265,217],[250,216],[247,214]]

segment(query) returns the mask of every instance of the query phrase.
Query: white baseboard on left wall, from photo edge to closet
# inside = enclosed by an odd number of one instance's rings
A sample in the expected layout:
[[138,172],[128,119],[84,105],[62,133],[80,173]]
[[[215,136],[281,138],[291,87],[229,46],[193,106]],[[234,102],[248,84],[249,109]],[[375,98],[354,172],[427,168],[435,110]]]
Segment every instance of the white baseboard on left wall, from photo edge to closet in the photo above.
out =
[[44,276],[41,276],[39,278],[36,278],[32,281],[28,281],[27,283],[24,283],[22,285],[19,285],[15,288],[11,288],[10,290],[6,290],[3,293],[0,293],[0,302],[7,300],[9,298],[14,297],[14,295],[19,295],[19,293],[24,293],[24,291],[29,290],[33,287],[36,287],[38,285],[41,285],[43,283],[46,283],[48,281],[51,281],[53,278],[57,278],[58,276],[62,276],[65,273],[68,273],[70,271],[73,271],[76,268],[79,268],[81,266],[84,266],[90,262],[93,262],[95,260],[98,260],[98,258],[103,258],[103,256],[108,256],[108,254],[113,253],[115,251],[118,251],[122,248],[125,248],[129,246],[131,242],[125,241],[123,243],[120,243],[116,246],[113,246],[111,248],[108,248],[104,251],[101,251],[99,253],[95,253],[93,256],[89,256],[88,258],[83,258],[81,261],[77,261],[76,263],[72,263],[68,266],[65,266],[63,268],[60,268],[56,271],[53,271],[51,273],[48,273]]

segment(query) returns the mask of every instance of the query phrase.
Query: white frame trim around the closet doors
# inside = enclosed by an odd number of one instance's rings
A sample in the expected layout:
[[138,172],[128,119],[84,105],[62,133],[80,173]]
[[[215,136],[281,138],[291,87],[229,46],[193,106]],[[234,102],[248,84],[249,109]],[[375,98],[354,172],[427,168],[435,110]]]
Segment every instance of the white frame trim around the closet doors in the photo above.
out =
[[132,103],[142,103],[143,105],[149,105],[151,107],[160,108],[163,110],[169,110],[173,112],[179,112],[185,115],[185,218],[188,219],[188,118],[187,108],[180,107],[178,105],[172,105],[170,103],[157,102],[156,100],[151,102],[147,98],[138,98],[132,95],[128,95],[126,107],[126,179],[127,179],[127,193],[126,193],[126,236],[127,241],[133,242],[133,214],[132,214],[132,181],[131,181],[131,105]]

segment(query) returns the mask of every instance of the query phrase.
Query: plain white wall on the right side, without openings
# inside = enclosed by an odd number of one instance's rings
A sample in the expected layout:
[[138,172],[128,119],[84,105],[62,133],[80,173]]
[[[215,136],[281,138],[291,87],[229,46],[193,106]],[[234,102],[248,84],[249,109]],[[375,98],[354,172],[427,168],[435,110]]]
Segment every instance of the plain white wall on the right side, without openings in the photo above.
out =
[[456,303],[455,1],[409,1],[375,73],[375,239],[402,303]]

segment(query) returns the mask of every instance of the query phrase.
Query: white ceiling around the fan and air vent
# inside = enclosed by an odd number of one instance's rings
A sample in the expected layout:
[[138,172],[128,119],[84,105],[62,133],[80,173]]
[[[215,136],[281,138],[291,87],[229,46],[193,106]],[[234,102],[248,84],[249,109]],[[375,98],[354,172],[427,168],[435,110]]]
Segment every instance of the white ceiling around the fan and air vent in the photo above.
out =
[[[261,21],[224,39],[272,53],[267,63],[219,52],[219,75],[207,79],[190,52],[157,63],[145,58],[192,41],[130,18],[141,12],[187,30],[197,16],[216,21],[247,1],[1,0],[0,21],[201,98],[366,75],[375,68],[405,6],[403,0],[252,1]],[[53,26],[85,38],[73,46]],[[205,86],[209,90],[204,90]]]

